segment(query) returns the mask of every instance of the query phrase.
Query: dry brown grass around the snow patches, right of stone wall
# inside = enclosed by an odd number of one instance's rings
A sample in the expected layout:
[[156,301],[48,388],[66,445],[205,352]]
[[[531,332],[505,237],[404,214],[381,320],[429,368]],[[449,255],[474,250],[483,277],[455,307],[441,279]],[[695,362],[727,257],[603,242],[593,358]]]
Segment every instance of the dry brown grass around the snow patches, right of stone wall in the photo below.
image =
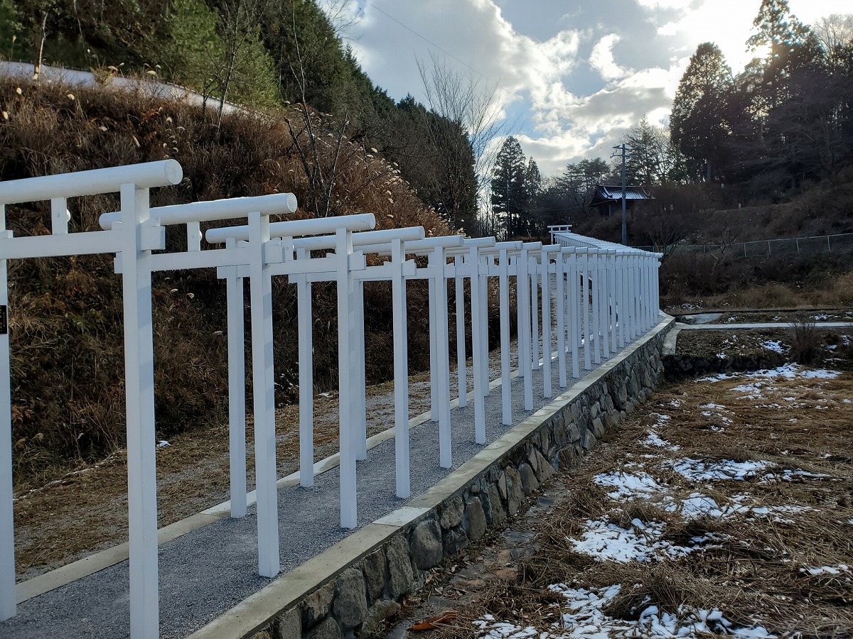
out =
[[[569,490],[553,514],[525,521],[526,528],[535,528],[536,537],[531,556],[519,564],[518,578],[509,583],[487,581],[477,601],[457,607],[452,627],[438,630],[436,636],[482,636],[473,622],[485,614],[522,628],[554,632],[568,608],[565,598],[547,587],[560,583],[583,588],[622,584],[605,609],[614,619],[637,619],[651,604],[670,613],[681,607],[717,607],[735,624],[760,621],[780,636],[850,636],[850,572],[812,575],[808,568],[850,566],[853,556],[853,412],[844,403],[853,399],[853,376],[763,378],[759,379],[765,382],[763,399],[739,399],[744,393],[732,389],[750,381],[754,380],[688,380],[662,389],[641,406],[609,444],[597,448],[581,468],[560,480]],[[708,404],[725,408],[708,409]],[[670,419],[661,420],[659,414]],[[644,445],[650,428],[680,447],[661,452]],[[650,453],[655,458],[645,457]],[[759,481],[760,477],[690,481],[666,465],[668,458],[763,460],[775,464],[769,470],[776,473],[801,469],[821,476],[794,475],[791,481]],[[748,495],[741,498],[743,504],[771,510],[768,515],[749,510],[725,518],[682,519],[664,509],[666,502],[659,495],[615,503],[592,479],[603,470],[619,469],[645,470],[676,499],[701,492],[717,504],[729,504],[738,495]],[[772,510],[780,506],[805,509]],[[635,518],[664,521],[664,539],[675,543],[707,533],[713,541],[688,556],[649,563],[597,561],[567,543],[579,536],[588,519],[629,528]]]

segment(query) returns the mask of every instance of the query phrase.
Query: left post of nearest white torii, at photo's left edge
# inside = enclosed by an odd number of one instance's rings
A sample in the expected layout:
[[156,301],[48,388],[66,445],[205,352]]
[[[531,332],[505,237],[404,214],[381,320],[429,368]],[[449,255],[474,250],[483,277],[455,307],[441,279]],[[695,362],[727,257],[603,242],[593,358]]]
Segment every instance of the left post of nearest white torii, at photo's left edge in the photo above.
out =
[[[0,238],[6,230],[6,206],[0,204]],[[15,616],[15,508],[12,493],[12,386],[9,377],[9,261],[0,259],[0,621]]]

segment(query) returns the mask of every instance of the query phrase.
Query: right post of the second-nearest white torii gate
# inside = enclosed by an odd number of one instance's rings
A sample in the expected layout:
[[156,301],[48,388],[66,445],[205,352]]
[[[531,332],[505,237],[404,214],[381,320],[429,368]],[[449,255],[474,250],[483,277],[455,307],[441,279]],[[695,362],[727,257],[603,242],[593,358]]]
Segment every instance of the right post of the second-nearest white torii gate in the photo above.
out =
[[276,488],[276,380],[273,371],[272,278],[264,260],[270,217],[250,213],[249,288],[252,295],[252,400],[254,403],[255,492],[258,502],[258,573],[275,577],[281,570]]

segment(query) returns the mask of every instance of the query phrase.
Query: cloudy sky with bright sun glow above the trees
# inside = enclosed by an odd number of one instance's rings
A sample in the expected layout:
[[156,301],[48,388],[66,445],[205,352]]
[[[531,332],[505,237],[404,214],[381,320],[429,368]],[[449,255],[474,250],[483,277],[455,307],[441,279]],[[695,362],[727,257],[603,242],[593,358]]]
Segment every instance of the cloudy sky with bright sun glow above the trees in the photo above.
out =
[[[761,0],[323,0],[354,22],[346,42],[393,99],[425,101],[417,61],[432,55],[495,100],[543,175],[608,158],[643,115],[667,122],[699,43],[735,72]],[[789,0],[807,24],[853,13],[851,0]]]

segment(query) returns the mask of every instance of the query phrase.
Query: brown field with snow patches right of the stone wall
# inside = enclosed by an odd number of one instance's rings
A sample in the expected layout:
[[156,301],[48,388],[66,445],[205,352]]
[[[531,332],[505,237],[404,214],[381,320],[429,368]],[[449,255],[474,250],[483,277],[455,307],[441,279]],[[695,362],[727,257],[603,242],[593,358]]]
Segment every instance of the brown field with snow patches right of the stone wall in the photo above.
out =
[[[733,334],[679,342],[713,353]],[[753,337],[738,342],[786,346]],[[837,347],[814,366],[665,385],[436,571],[387,636],[850,636],[851,364]]]

